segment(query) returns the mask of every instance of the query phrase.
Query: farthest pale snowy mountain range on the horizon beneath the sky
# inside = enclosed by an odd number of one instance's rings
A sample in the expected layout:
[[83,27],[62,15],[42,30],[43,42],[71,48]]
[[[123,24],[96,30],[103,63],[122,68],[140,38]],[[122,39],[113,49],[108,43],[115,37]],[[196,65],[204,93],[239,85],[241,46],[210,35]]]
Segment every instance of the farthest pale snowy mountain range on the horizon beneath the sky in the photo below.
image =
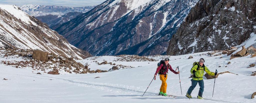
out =
[[23,5],[20,9],[27,12],[30,16],[44,16],[48,14],[62,16],[68,12],[87,12],[91,10],[94,6],[86,7],[66,7],[66,6],[56,6],[56,5]]

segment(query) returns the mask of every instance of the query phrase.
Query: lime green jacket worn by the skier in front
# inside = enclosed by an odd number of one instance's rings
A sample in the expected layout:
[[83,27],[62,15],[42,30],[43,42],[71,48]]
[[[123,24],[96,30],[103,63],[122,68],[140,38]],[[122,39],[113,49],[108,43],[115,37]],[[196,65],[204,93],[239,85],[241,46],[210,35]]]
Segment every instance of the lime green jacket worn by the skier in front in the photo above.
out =
[[[198,63],[198,62],[197,62]],[[197,67],[199,66],[199,69],[197,70]],[[205,69],[204,69],[205,67]],[[206,72],[208,75],[214,76],[215,73],[211,72],[204,64],[201,67],[199,64],[195,65],[193,68],[191,68],[190,72],[193,74],[193,70],[196,71],[195,76],[197,78],[193,77],[193,80],[203,80],[204,73]],[[205,72],[204,72],[205,71]]]

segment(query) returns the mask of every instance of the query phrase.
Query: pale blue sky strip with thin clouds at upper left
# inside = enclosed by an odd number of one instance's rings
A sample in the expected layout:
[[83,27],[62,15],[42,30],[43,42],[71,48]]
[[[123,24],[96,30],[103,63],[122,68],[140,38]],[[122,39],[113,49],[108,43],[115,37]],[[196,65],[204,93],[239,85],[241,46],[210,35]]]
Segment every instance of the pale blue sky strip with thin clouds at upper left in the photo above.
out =
[[103,3],[106,0],[0,0],[0,4],[9,5],[58,5],[68,7],[83,7],[83,6],[94,6]]

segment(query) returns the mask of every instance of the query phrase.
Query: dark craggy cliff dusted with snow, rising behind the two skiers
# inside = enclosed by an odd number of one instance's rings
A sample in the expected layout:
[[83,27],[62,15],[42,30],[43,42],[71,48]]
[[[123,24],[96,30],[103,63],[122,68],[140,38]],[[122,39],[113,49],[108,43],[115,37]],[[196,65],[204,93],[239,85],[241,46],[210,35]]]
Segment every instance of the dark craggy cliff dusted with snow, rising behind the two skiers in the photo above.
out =
[[224,50],[256,33],[255,0],[200,0],[169,42],[168,55]]

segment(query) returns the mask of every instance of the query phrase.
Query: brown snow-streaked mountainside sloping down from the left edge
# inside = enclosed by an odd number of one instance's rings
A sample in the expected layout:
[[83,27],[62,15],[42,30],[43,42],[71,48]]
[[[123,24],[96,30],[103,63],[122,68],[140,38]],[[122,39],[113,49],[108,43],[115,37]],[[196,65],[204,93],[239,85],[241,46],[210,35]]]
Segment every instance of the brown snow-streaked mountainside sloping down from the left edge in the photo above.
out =
[[14,5],[0,5],[0,48],[40,49],[76,59],[90,56]]

